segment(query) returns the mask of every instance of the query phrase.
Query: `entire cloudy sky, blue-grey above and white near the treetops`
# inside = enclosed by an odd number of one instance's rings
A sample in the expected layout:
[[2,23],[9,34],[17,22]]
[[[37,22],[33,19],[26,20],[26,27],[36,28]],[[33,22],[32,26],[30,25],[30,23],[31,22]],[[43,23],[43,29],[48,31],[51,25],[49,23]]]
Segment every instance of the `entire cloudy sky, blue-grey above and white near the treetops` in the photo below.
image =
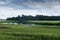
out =
[[0,19],[18,15],[60,16],[60,0],[0,0]]

